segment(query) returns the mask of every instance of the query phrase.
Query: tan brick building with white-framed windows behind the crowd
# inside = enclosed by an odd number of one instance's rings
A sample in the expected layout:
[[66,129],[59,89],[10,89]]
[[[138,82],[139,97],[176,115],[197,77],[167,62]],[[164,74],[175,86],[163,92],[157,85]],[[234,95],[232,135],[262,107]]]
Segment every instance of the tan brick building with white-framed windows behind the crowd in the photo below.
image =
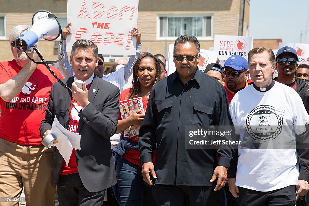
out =
[[[203,49],[213,47],[215,34],[248,36],[249,6],[249,0],[139,0],[138,28],[142,31],[142,52],[150,50],[166,56],[166,47],[186,33],[197,36]],[[0,61],[12,59],[7,42],[11,29],[18,24],[31,25],[32,15],[38,10],[52,12],[62,27],[66,25],[66,0],[2,2]],[[41,40],[39,49],[45,60],[57,59],[57,42]],[[112,63],[108,63],[107,58],[106,66]]]

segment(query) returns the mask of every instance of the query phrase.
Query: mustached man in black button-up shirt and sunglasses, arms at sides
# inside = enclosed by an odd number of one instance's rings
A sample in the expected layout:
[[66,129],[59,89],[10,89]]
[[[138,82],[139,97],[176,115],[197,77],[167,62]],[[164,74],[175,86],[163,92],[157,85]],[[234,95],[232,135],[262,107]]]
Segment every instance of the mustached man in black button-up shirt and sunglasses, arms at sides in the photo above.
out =
[[231,149],[185,149],[185,126],[232,124],[224,87],[197,69],[199,52],[196,37],[177,38],[176,72],[151,90],[140,128],[143,179],[158,205],[215,205],[225,184]]

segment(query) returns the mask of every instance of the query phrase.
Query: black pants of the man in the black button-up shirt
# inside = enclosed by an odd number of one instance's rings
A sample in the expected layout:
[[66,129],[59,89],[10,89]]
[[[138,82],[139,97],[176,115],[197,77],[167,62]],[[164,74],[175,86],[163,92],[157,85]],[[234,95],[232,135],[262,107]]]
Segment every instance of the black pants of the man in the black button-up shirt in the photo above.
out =
[[157,205],[216,206],[218,191],[214,187],[154,185],[152,194]]

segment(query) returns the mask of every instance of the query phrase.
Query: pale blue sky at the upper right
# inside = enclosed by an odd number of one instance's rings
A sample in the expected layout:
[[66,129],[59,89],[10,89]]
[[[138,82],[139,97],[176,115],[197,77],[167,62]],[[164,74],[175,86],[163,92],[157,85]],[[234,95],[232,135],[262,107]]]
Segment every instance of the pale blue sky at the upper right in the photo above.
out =
[[308,0],[250,0],[249,36],[309,44],[308,7]]

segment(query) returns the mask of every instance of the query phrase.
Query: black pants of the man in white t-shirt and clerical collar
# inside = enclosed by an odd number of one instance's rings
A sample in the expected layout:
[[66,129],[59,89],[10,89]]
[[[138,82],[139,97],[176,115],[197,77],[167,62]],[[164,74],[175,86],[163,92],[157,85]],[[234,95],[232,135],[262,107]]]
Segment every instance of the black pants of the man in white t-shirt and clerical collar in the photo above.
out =
[[296,199],[295,185],[269,192],[238,188],[241,206],[294,206]]

